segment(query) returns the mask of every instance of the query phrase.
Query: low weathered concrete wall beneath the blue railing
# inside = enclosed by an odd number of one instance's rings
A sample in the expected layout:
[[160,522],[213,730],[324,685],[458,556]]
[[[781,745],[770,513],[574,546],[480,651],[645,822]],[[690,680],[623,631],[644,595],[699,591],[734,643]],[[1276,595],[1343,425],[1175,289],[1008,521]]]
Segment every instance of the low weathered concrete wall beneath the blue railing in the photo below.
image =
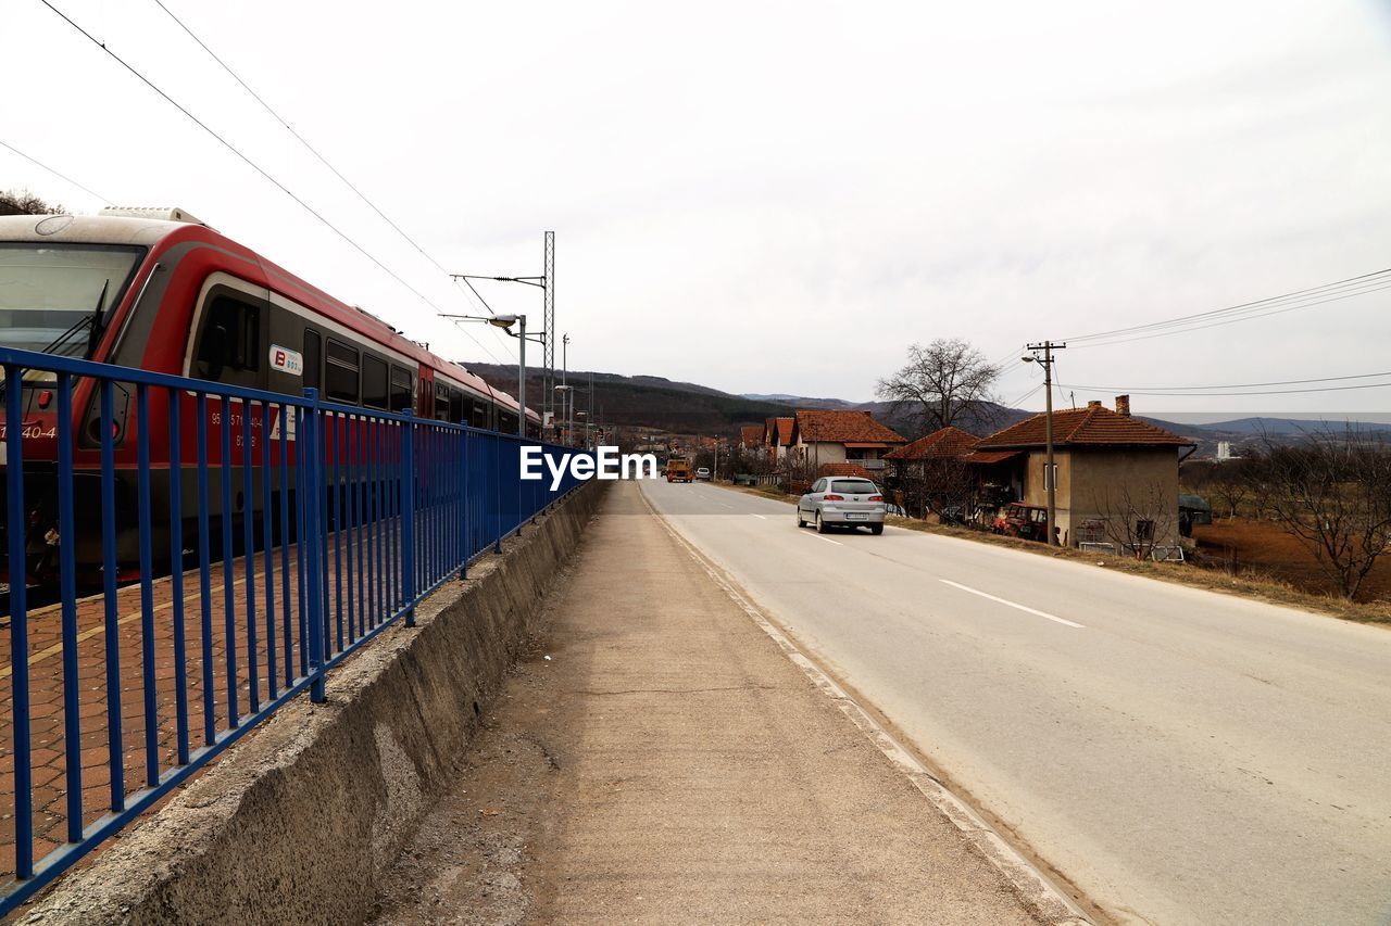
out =
[[463,759],[556,569],[590,482],[287,705],[164,809],[68,873],[26,923],[351,923]]

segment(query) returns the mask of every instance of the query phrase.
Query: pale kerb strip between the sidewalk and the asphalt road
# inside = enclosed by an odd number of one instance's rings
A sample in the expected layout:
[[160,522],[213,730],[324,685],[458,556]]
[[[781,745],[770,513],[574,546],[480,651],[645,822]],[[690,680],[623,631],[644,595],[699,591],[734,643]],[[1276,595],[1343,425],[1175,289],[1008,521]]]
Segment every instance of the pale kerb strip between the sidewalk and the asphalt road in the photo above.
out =
[[953,794],[922,762],[893,737],[869,712],[842,688],[835,679],[811,660],[757,605],[750,602],[696,546],[672,527],[666,516],[657,510],[647,492],[638,488],[647,510],[662,528],[696,560],[707,576],[768,634],[797,667],[803,670],[822,694],[835,701],[840,712],[887,758],[906,779],[965,836],[982,856],[999,870],[1018,893],[1029,912],[1056,926],[1095,926],[1077,901],[1067,895],[1053,879],[1039,870],[1018,850],[1000,836],[971,805]]

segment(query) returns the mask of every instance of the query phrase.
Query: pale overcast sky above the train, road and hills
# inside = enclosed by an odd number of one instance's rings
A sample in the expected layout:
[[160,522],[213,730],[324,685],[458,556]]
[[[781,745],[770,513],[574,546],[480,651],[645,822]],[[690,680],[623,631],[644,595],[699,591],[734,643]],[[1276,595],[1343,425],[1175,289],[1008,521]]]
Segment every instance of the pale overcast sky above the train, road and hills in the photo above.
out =
[[[479,311],[153,0],[53,3],[438,306]],[[576,368],[864,400],[914,341],[1017,357],[1391,267],[1387,3],[164,3],[444,267],[538,274],[554,229]],[[182,206],[445,356],[515,362],[39,0],[4,7],[0,140],[113,202]],[[104,204],[0,149],[13,186]],[[484,295],[538,324],[538,291]],[[1388,309],[1070,349],[1059,380],[1109,403],[1081,387],[1378,373]],[[1007,366],[1002,399],[1036,385]]]

